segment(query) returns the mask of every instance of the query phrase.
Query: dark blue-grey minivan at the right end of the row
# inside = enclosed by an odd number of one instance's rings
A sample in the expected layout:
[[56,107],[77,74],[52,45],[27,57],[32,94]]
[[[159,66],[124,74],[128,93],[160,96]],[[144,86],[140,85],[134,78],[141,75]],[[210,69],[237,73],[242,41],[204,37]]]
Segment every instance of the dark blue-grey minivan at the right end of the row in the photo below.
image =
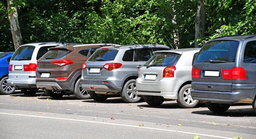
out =
[[256,35],[226,36],[207,42],[192,68],[193,99],[213,112],[232,103],[252,104],[256,112]]

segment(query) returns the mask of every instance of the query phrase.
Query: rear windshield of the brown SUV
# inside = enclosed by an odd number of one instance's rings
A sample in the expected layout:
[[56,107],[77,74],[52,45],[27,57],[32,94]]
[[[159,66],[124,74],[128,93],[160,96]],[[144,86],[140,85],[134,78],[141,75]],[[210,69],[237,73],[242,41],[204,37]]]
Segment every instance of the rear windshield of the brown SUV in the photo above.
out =
[[62,57],[65,57],[69,51],[65,50],[52,50],[48,51],[43,57],[40,58],[40,60],[47,60],[47,59],[60,59]]

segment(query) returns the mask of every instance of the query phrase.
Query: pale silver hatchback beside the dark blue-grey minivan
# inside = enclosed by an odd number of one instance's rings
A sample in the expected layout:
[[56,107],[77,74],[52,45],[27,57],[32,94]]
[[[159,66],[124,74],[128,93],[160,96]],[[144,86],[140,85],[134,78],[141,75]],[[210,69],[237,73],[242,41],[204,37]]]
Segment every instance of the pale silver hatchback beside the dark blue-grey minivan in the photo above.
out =
[[154,56],[140,68],[136,80],[138,96],[152,106],[166,99],[177,100],[182,108],[192,108],[198,100],[191,98],[192,60],[200,48],[154,52]]

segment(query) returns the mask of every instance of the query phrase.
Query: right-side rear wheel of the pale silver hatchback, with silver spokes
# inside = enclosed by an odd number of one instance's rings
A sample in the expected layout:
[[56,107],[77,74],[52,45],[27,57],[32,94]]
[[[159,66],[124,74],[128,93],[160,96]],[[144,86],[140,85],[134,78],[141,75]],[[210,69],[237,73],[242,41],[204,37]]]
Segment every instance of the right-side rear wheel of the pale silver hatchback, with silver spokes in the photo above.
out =
[[177,103],[182,108],[194,108],[198,104],[190,95],[191,84],[184,85],[178,92]]

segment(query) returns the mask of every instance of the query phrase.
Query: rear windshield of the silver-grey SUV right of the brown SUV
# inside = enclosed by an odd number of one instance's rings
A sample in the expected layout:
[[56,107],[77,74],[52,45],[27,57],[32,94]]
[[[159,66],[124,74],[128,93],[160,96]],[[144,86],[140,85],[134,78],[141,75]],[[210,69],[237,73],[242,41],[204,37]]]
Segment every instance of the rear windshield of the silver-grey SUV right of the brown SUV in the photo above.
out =
[[118,50],[96,50],[92,56],[88,59],[88,61],[113,61],[118,53]]

